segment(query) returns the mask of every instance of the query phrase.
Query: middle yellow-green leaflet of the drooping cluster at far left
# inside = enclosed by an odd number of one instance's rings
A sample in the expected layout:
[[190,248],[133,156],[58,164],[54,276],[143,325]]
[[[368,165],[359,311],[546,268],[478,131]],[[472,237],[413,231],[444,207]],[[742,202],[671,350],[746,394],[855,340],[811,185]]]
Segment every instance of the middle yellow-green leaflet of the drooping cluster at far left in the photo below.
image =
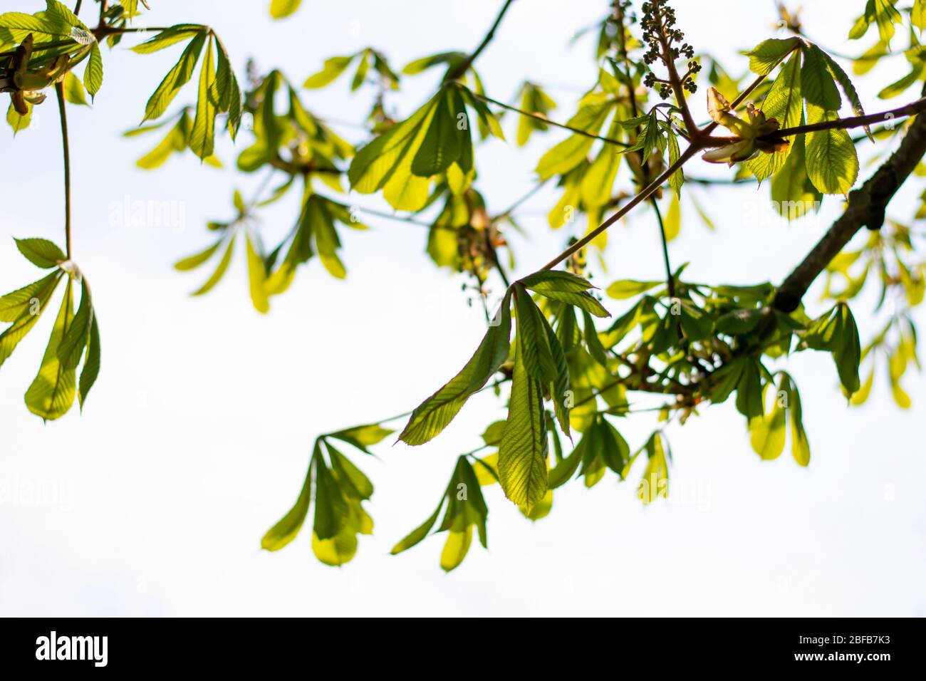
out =
[[58,359],[58,346],[68,333],[73,319],[71,282],[68,280],[55,327],[48,339],[48,347],[45,348],[42,366],[26,391],[26,407],[45,421],[54,421],[68,413],[77,394],[74,368],[63,365]]

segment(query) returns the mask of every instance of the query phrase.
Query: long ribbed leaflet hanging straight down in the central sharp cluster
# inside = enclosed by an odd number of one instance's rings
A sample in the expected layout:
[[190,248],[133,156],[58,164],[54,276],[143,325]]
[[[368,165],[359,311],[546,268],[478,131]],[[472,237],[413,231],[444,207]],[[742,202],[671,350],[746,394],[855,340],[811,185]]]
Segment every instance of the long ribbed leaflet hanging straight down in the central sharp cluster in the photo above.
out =
[[528,512],[546,492],[544,422],[540,383],[527,372],[519,347],[515,353],[505,433],[498,448],[498,478],[505,496],[526,507]]

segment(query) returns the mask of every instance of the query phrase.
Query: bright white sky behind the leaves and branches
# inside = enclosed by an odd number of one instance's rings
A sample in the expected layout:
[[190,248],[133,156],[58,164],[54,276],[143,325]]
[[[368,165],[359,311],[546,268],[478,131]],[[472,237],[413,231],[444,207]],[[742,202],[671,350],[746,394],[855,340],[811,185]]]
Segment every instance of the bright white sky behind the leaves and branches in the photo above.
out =
[[[382,49],[396,69],[434,52],[469,50],[500,6],[307,0],[294,18],[272,22],[268,4],[152,0],[148,21],[209,23],[239,72],[255,56],[261,69],[279,66],[302,82],[325,57],[366,45]],[[89,21],[94,3],[84,5]],[[569,118],[595,78],[593,38],[572,47],[569,38],[600,19],[606,5],[518,0],[478,64],[489,94],[510,100],[524,79],[548,84],[560,104],[557,120]],[[777,19],[770,1],[675,5],[695,50],[715,53],[733,71],[746,69],[736,50],[770,37]],[[807,32],[821,44],[857,53],[873,40],[845,40],[861,0],[804,5]],[[41,3],[16,6],[34,11]],[[69,110],[74,253],[94,287],[103,366],[82,416],[75,408],[44,425],[26,410],[22,396],[44,352],[51,313],[0,372],[0,614],[926,615],[926,460],[917,429],[926,387],[909,373],[914,406],[897,410],[881,368],[870,404],[849,410],[824,355],[788,363],[804,401],[807,469],[787,451],[773,462],[759,460],[744,419],[725,404],[669,428],[675,465],[668,502],[642,508],[634,493],[642,470],[623,485],[608,473],[592,490],[581,482],[557,490],[551,515],[530,523],[494,486],[486,490],[488,551],[474,543],[449,575],[438,567],[443,535],[389,556],[394,542],[430,515],[456,456],[480,444],[485,424],[504,418],[503,400],[485,394],[424,447],[385,444],[380,460],[355,458],[376,485],[368,505],[376,531],[360,538],[353,562],[321,565],[306,530],[279,553],[261,551],[260,537],[302,485],[315,436],[417,405],[469,358],[484,323],[467,308],[460,279],[436,271],[424,254],[423,230],[381,219],[369,220],[371,232],[342,232],[346,282],[313,259],[266,317],[248,300],[243,253],[213,293],[189,298],[207,272],[181,274],[171,263],[206,246],[206,221],[231,217],[232,188],[249,194],[259,177],[232,170],[236,152],[224,136],[219,156],[226,170],[203,167],[190,154],[154,172],[135,168],[159,138],[123,140],[119,133],[141,120],[147,96],[178,54],[106,50],[94,109]],[[902,62],[896,57],[857,78],[869,110],[885,108],[874,95],[902,75]],[[410,112],[438,77],[408,78],[390,105]],[[369,95],[347,91],[342,79],[307,92],[304,101],[323,118],[360,122]],[[694,98],[699,120],[704,91],[702,84]],[[193,100],[188,86],[175,107]],[[63,242],[54,98],[38,110],[37,130],[15,141],[0,131],[4,293],[39,278],[8,237]],[[514,124],[505,119],[512,140]],[[353,127],[338,130],[361,139]],[[538,136],[524,150],[496,141],[479,149],[479,187],[490,211],[507,208],[530,187],[537,158],[560,138]],[[246,144],[245,133],[239,148]],[[720,171],[696,161],[692,172]],[[860,179],[870,172],[863,162]],[[891,215],[906,220],[915,192],[907,188]],[[682,235],[670,246],[676,265],[691,261],[694,281],[780,282],[840,212],[840,202],[829,198],[819,221],[789,226],[771,213],[765,187],[697,196],[717,232],[683,205]],[[183,221],[175,228],[119,225],[114,210],[126,197],[177,202]],[[566,233],[545,224],[555,200],[544,191],[519,211],[531,233],[530,241],[513,237],[519,274],[565,243]],[[268,234],[289,229],[295,201],[294,193],[267,211]],[[375,197],[357,202],[388,208]],[[661,276],[651,213],[611,230],[606,260],[599,285]],[[627,307],[606,305],[612,313]],[[807,307],[823,310],[814,296]],[[875,330],[870,300],[854,310],[865,342]],[[654,420],[641,415],[619,425],[636,448]],[[25,496],[30,486],[49,487],[56,498],[35,502]]]

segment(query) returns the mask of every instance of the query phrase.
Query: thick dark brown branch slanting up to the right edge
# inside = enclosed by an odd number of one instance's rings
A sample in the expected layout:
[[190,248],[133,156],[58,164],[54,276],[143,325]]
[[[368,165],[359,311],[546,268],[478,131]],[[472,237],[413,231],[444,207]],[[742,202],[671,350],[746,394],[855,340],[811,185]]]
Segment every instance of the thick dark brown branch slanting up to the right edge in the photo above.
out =
[[[920,100],[923,102],[924,100]],[[913,121],[896,151],[860,188],[849,193],[849,206],[807,258],[784,280],[775,293],[773,306],[791,312],[800,305],[810,284],[863,226],[878,229],[884,221],[884,208],[900,185],[926,154],[926,116]]]

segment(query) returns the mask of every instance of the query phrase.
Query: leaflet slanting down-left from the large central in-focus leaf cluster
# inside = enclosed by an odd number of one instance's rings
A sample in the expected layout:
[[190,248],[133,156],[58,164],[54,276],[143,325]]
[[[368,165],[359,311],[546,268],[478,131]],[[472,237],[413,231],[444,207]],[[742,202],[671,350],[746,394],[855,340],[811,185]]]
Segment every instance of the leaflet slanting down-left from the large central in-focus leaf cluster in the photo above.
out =
[[492,377],[508,357],[511,335],[511,294],[506,294],[482,343],[466,366],[444,387],[412,411],[399,439],[407,445],[423,445],[447,427],[473,393]]

